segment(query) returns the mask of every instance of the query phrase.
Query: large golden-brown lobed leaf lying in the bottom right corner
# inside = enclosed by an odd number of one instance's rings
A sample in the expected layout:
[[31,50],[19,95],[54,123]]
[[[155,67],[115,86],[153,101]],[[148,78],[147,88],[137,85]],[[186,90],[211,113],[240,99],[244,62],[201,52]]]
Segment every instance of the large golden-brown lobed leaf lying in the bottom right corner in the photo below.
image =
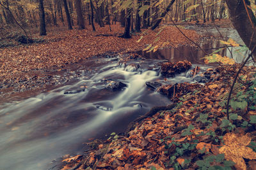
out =
[[223,137],[225,146],[222,146],[219,152],[224,153],[227,160],[235,162],[237,169],[246,170],[246,164],[243,158],[256,159],[256,152],[253,152],[252,148],[247,147],[251,139],[248,134],[227,133]]

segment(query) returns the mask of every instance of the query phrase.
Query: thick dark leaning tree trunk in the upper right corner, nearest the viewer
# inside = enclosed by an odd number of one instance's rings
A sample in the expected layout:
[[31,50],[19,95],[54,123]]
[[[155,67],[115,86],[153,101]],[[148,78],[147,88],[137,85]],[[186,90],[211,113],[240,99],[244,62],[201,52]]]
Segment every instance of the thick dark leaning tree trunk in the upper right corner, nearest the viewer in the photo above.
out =
[[[236,28],[241,39],[243,39],[245,45],[248,46],[250,50],[252,50],[256,45],[256,29],[255,23],[253,22],[253,18],[255,18],[255,16],[253,15],[252,10],[247,8],[249,17],[252,19],[252,22],[250,22],[246,8],[244,8],[243,1],[226,0],[226,3],[232,24]],[[255,54],[256,50],[254,51],[253,55]]]

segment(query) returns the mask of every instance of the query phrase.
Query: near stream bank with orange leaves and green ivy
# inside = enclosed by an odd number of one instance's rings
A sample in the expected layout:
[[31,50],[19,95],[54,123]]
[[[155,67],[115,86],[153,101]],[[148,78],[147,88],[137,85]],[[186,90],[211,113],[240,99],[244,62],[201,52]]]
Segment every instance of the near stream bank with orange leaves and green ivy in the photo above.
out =
[[88,143],[92,150],[66,158],[63,169],[255,169],[255,67],[244,67],[230,120],[225,113],[238,67],[209,69],[212,81],[204,86],[180,84],[167,110],[134,124],[124,136]]

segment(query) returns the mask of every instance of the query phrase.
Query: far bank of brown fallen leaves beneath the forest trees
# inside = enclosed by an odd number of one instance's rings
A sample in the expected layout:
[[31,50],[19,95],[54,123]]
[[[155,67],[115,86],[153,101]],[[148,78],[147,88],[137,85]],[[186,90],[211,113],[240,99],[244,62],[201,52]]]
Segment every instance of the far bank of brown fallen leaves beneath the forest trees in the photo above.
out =
[[[145,31],[133,35],[131,39],[118,38],[124,28],[120,25],[97,27],[93,32],[91,27],[85,30],[52,31],[44,37],[44,43],[20,45],[9,48],[0,48],[0,94],[1,97],[13,91],[42,88],[43,85],[33,85],[33,78],[41,84],[48,81],[45,71],[54,67],[58,70],[67,64],[84,60],[93,55],[106,52],[131,52],[145,48],[148,44],[164,46],[188,45],[191,43],[172,26],[165,27],[157,38],[157,31]],[[197,41],[195,31],[183,30],[189,38]],[[140,43],[136,43],[143,36]],[[34,73],[35,72],[35,73]],[[39,72],[39,73],[38,73]],[[36,77],[35,77],[36,76]],[[21,82],[28,81],[24,88]],[[34,83],[35,84],[35,83]]]

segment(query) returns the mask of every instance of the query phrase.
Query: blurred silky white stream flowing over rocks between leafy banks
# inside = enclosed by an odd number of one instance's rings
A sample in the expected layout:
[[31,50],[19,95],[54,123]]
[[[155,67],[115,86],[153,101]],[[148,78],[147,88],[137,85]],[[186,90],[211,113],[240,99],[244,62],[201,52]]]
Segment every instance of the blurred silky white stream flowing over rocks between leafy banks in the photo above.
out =
[[[215,41],[202,48],[212,46],[220,44]],[[153,106],[170,104],[166,97],[145,85],[146,81],[163,80],[157,65],[163,60],[187,59],[193,67],[207,69],[200,60],[204,53],[191,46],[138,53],[147,60],[120,64],[118,56],[93,57],[58,75],[76,76],[69,83],[28,99],[0,105],[0,169],[48,169],[58,157],[83,153],[83,142],[111,132],[124,132],[132,120]],[[106,89],[113,81],[120,81],[126,87]],[[186,73],[168,81],[195,82]]]

